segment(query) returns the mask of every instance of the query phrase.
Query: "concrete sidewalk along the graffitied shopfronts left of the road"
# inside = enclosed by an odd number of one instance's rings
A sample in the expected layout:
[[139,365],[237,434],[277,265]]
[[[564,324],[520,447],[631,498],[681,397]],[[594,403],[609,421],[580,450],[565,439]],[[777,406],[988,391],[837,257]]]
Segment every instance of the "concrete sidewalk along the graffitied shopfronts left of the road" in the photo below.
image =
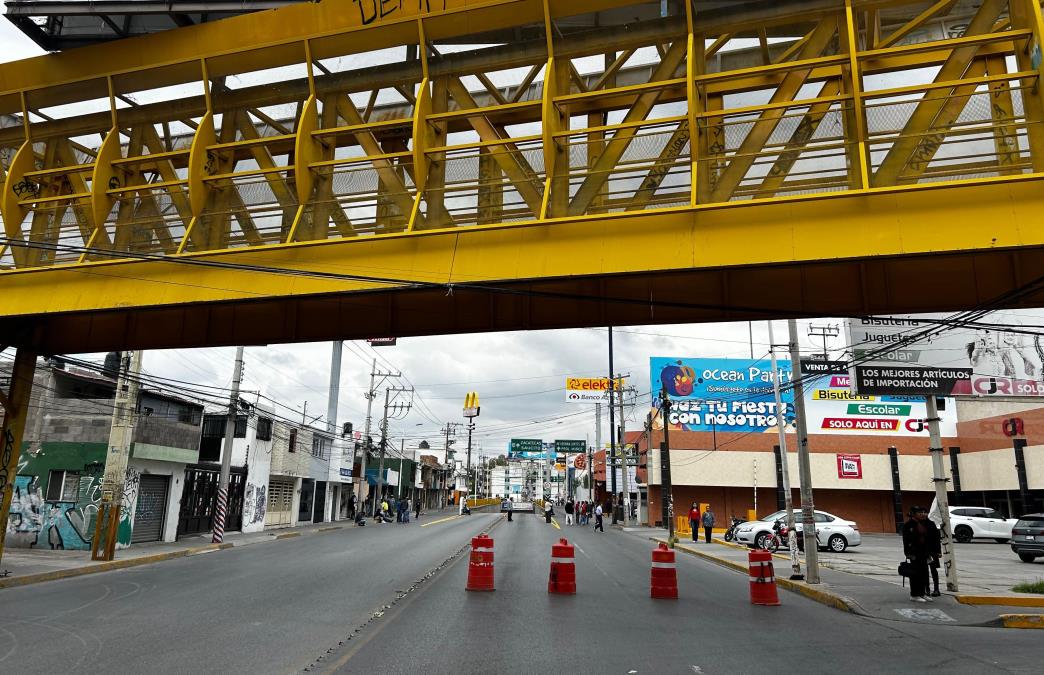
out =
[[[423,524],[425,519],[455,513],[455,506],[435,511],[425,511],[421,516],[420,523]],[[417,523],[417,521],[413,521],[413,523]],[[387,524],[384,527],[392,525],[395,524]],[[366,527],[372,526],[374,526],[373,522],[367,521]],[[0,588],[65,579],[84,574],[121,570],[189,555],[212,553],[222,549],[253,546],[255,544],[265,544],[299,536],[310,536],[354,527],[355,525],[352,521],[334,521],[332,523],[308,523],[293,528],[280,528],[263,532],[226,532],[222,544],[211,544],[210,533],[190,535],[183,536],[173,543],[135,544],[129,548],[116,551],[116,557],[111,561],[92,560],[90,551],[7,549],[3,552],[3,560],[0,562]]]

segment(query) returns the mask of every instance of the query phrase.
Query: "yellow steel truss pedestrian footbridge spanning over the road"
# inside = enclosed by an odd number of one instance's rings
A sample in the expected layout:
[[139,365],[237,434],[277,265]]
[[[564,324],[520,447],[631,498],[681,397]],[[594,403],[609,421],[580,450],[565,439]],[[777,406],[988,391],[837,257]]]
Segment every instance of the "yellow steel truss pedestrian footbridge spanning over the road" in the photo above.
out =
[[357,0],[0,65],[3,341],[1039,305],[1042,35],[1038,0]]

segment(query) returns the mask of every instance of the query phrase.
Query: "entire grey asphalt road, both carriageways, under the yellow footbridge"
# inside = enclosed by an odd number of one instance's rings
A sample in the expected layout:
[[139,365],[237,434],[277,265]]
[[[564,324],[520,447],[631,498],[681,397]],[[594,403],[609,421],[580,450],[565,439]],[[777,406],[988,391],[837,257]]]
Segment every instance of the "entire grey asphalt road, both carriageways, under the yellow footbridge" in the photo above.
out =
[[[497,590],[467,593],[454,555],[484,529]],[[785,592],[752,606],[744,575],[681,554],[681,598],[651,600],[651,543],[608,529],[444,513],[7,588],[0,673],[1039,672],[1036,631],[864,619]],[[575,596],[547,594],[560,536],[577,545]]]

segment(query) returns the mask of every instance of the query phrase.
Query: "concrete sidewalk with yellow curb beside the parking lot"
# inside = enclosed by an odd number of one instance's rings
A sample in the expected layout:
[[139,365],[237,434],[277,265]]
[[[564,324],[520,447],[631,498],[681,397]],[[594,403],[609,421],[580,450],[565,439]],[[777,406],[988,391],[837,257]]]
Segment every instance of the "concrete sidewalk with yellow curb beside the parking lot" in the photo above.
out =
[[[666,541],[666,533],[662,529],[627,528],[631,534],[647,536],[655,541]],[[728,544],[715,538],[712,544],[679,541],[675,551],[698,556],[705,560],[748,574],[749,549],[743,546]],[[897,563],[898,565],[898,563]],[[885,621],[901,621],[919,624],[936,624],[950,626],[994,626],[994,627],[1044,627],[1039,614],[1006,613],[1004,608],[997,606],[971,605],[957,601],[953,594],[944,593],[930,603],[915,603],[909,599],[908,588],[898,583],[888,583],[880,579],[859,574],[839,572],[821,565],[821,583],[808,584],[804,581],[791,581],[789,558],[776,554],[774,558],[777,585],[781,588],[800,593],[801,595],[836,607],[844,611],[873,617]],[[897,581],[899,577],[896,577]],[[786,602],[786,598],[781,598]]]

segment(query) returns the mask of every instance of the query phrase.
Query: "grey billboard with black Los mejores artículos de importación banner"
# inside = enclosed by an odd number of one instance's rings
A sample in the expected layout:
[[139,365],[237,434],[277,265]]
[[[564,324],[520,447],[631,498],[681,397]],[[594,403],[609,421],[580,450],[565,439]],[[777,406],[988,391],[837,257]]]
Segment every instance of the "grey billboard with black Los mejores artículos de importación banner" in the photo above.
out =
[[[905,342],[926,330],[941,328],[950,316],[849,319],[849,344],[857,361],[852,372],[853,391],[1044,396],[1044,338],[1036,329],[1019,332],[1027,317],[1018,312],[993,312],[978,326],[946,327],[928,338]],[[896,346],[881,349],[888,345]]]

